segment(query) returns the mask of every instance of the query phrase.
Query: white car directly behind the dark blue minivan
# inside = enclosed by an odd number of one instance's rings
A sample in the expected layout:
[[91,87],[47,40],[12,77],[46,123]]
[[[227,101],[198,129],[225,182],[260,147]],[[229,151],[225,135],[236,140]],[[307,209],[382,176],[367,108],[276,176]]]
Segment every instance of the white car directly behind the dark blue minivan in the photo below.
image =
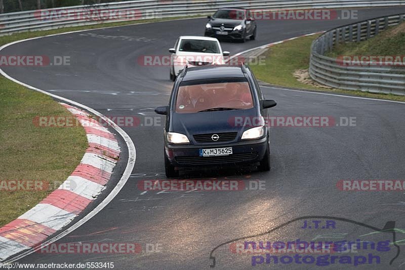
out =
[[169,49],[172,53],[170,66],[170,80],[175,81],[180,70],[187,65],[222,65],[225,64],[224,56],[229,52],[223,52],[221,44],[214,37],[183,35],[177,38],[174,48]]

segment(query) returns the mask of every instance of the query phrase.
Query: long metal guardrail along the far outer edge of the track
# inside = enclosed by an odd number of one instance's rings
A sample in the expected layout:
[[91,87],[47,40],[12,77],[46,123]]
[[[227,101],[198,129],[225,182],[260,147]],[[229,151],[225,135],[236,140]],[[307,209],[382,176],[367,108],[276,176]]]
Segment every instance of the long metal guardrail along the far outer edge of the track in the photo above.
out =
[[[347,7],[405,6],[405,1],[392,0],[138,0],[118,3],[74,6],[38,11],[24,11],[0,15],[0,35],[14,32],[48,30],[67,26],[90,25],[128,20],[168,18],[212,14],[220,7],[250,9],[320,9]],[[89,13],[126,13],[133,16],[112,18]],[[59,14],[56,18],[55,14]],[[66,17],[60,16],[66,14]],[[48,16],[50,15],[50,16]]]

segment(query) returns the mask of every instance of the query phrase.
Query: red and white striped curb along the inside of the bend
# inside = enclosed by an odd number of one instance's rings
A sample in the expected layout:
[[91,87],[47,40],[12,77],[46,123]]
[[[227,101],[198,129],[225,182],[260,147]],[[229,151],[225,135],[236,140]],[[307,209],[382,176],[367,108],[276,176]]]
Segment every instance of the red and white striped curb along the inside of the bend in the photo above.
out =
[[47,198],[0,228],[0,261],[43,243],[69,224],[105,188],[120,149],[114,135],[88,113],[65,103],[84,127],[89,147],[73,173]]

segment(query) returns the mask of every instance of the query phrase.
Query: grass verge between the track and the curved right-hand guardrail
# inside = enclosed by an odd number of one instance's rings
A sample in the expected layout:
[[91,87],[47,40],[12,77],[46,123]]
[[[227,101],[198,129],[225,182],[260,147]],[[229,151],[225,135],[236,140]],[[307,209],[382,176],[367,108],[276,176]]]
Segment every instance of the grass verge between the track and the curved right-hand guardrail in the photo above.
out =
[[271,85],[292,87],[306,90],[316,90],[322,92],[334,92],[347,95],[387,99],[395,101],[405,101],[404,96],[392,94],[373,94],[361,91],[350,91],[340,89],[327,89],[312,86],[299,82],[294,72],[296,70],[309,68],[309,55],[312,41],[319,35],[311,35],[297,38],[282,44],[272,46],[264,53],[264,65],[252,65],[251,68],[258,80]]

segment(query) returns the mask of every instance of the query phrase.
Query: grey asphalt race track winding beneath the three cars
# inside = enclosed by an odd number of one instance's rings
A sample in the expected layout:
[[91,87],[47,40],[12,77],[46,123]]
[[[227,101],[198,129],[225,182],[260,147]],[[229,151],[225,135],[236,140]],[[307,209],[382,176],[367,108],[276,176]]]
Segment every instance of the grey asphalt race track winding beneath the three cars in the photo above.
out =
[[[405,7],[359,10],[359,20],[404,12]],[[255,41],[221,42],[231,54],[286,38],[328,30],[352,21],[257,21]],[[189,19],[90,30],[18,43],[3,55],[70,56],[69,66],[7,67],[13,78],[90,106],[104,115],[135,116],[166,105],[172,82],[169,67],[142,66],[138,57],[169,55],[179,35],[201,35],[206,19]],[[341,191],[341,179],[405,180],[405,106],[401,103],[322,95],[262,87],[277,101],[274,116],[356,118],[352,127],[274,127],[271,130],[270,172],[191,172],[186,178],[265,181],[263,190],[159,192],[137,188],[141,180],[166,179],[163,125],[124,127],[135,143],[137,159],[131,178],[115,199],[90,221],[57,243],[158,244],[160,252],[140,254],[38,254],[20,260],[30,263],[114,262],[115,269],[202,269],[252,267],[252,256],[233,254],[223,243],[249,241],[353,240],[392,241],[391,233],[375,233],[386,222],[405,228],[403,191]],[[148,119],[161,119],[157,114]],[[315,216],[308,217],[305,216]],[[328,217],[316,217],[328,216]],[[295,218],[272,232],[273,227]],[[348,219],[346,221],[337,218]],[[304,220],[336,221],[326,228],[301,228]],[[351,222],[353,221],[353,222]],[[360,222],[360,223],[354,223]],[[392,224],[392,223],[391,223]],[[374,232],[374,233],[373,233]],[[262,235],[260,235],[262,234]],[[257,236],[255,236],[257,235]],[[329,236],[325,236],[329,235]],[[395,239],[405,239],[397,231]],[[243,243],[244,240],[237,240]],[[211,251],[218,247],[216,250]],[[156,246],[155,246],[156,247]],[[380,264],[362,268],[404,268],[402,246],[375,251]],[[400,250],[400,252],[399,252]],[[399,252],[399,255],[398,255]],[[394,260],[392,260],[395,258]],[[390,265],[390,261],[392,264]],[[255,267],[309,269],[311,264],[266,264]],[[335,263],[339,269],[353,264]],[[329,268],[327,267],[327,268]]]

